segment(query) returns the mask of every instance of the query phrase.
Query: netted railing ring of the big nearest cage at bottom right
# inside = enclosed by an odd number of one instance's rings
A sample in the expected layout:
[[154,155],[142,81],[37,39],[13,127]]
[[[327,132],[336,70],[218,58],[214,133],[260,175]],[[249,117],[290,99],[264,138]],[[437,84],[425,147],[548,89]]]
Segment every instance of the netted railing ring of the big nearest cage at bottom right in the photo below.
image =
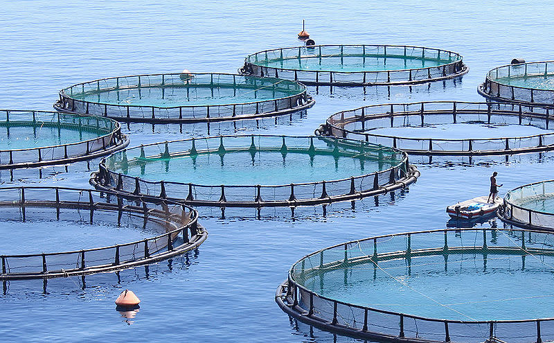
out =
[[[493,246],[491,242],[501,234],[506,235],[509,246]],[[321,272],[370,263],[375,269],[379,262],[404,259],[409,267],[412,258],[443,256],[445,270],[448,256],[455,254],[482,255],[486,268],[487,257],[497,255],[554,257],[552,240],[546,240],[542,231],[501,229],[440,229],[391,234],[355,240],[328,247],[304,256],[289,270],[287,281],[276,290],[278,306],[290,317],[316,328],[377,342],[543,342],[554,339],[554,317],[515,320],[452,320],[422,317],[408,313],[349,304],[324,297],[306,288],[299,279],[309,274],[321,276]],[[436,247],[427,247],[425,238],[418,242],[418,235],[434,236]],[[472,245],[456,246],[451,240],[470,236]],[[546,234],[548,235],[548,234]],[[481,238],[482,237],[482,238]],[[532,239],[534,238],[534,239]],[[402,245],[390,247],[385,243],[399,240]],[[427,242],[429,243],[429,242]],[[366,244],[368,254],[361,249]],[[389,244],[390,245],[390,244]],[[387,249],[388,247],[388,249]],[[455,263],[456,261],[454,261]],[[345,281],[346,282],[346,281]]]

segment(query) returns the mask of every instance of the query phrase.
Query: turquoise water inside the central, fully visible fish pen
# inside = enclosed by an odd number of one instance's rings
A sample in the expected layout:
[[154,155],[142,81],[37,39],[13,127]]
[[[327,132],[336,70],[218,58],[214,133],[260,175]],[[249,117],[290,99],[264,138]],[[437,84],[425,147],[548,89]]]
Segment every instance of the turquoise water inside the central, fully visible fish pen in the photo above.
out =
[[[393,160],[394,162],[394,160]],[[352,157],[314,155],[279,151],[228,152],[225,155],[200,154],[195,157],[172,157],[131,164],[126,175],[149,181],[172,181],[206,185],[280,185],[346,179],[386,170],[396,163],[361,161]],[[121,170],[116,170],[120,172]]]

